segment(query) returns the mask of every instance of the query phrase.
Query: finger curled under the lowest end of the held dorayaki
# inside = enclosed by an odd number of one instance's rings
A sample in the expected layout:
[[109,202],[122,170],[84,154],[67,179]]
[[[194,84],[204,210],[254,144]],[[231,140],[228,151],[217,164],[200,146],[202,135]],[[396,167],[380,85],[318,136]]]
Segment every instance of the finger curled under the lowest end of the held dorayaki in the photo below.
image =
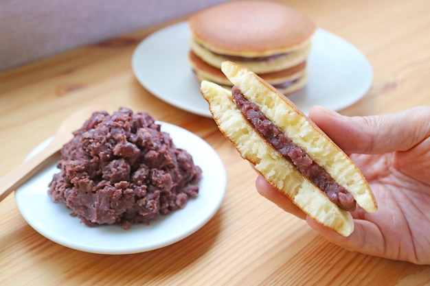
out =
[[385,251],[384,238],[376,224],[354,219],[354,231],[349,237],[343,237],[333,230],[330,230],[311,217],[306,217],[306,222],[311,228],[328,241],[337,244],[347,250],[353,252],[361,252],[364,254],[376,255],[378,257],[387,257]]

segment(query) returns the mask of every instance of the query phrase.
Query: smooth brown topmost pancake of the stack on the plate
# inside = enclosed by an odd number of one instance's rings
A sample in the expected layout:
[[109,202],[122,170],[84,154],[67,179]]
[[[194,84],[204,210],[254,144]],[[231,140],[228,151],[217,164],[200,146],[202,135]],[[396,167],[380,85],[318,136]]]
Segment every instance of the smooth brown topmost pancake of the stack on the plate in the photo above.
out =
[[259,57],[306,45],[313,21],[286,5],[269,1],[233,1],[190,17],[194,39],[216,53]]

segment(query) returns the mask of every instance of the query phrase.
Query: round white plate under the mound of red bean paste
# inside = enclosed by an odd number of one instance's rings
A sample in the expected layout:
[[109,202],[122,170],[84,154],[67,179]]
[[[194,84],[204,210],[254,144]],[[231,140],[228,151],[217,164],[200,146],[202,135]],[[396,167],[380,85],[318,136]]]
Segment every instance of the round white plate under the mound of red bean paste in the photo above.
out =
[[[55,165],[47,167],[15,191],[15,200],[24,219],[38,233],[63,246],[100,254],[145,252],[177,242],[208,222],[218,210],[225,194],[225,167],[215,150],[192,132],[161,123],[161,130],[170,133],[174,144],[193,156],[203,170],[199,195],[191,198],[185,208],[157,219],[149,226],[135,224],[124,230],[120,226],[89,228],[71,217],[63,203],[52,202],[47,195],[48,184],[58,172]],[[33,156],[49,143],[39,145]]]

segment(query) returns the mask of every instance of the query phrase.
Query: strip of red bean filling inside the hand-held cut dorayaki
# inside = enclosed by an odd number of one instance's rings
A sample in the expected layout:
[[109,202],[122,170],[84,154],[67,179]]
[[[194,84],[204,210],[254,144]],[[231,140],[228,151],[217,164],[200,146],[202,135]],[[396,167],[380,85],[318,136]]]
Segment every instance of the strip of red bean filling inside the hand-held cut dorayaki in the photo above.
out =
[[231,93],[236,105],[245,118],[269,142],[281,156],[293,163],[302,176],[308,178],[323,191],[328,199],[345,211],[354,211],[357,203],[348,191],[313,161],[308,154],[289,139],[273,122],[271,122],[260,108],[249,102],[238,86],[233,86]]

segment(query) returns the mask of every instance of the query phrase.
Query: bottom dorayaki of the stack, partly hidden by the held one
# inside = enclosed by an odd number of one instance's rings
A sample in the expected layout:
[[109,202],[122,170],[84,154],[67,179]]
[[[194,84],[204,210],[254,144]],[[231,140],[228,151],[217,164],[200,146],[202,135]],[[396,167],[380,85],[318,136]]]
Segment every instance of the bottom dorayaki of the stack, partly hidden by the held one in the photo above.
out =
[[[188,59],[196,75],[196,78],[199,81],[207,80],[225,87],[232,86],[231,82],[220,69],[207,64],[201,60],[201,58],[196,56],[193,51],[189,52]],[[262,73],[259,75],[284,95],[293,93],[306,84],[306,61],[282,71]]]

